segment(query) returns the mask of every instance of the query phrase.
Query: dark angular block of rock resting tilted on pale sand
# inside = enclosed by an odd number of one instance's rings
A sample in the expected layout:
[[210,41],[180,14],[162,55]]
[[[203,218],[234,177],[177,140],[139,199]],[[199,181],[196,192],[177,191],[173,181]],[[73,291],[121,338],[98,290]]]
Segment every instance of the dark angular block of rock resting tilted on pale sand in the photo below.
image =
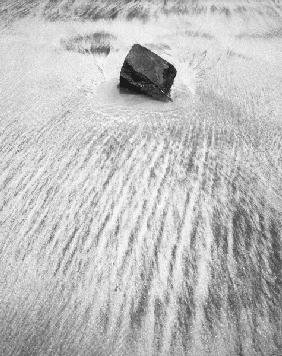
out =
[[135,44],[120,71],[120,88],[172,101],[170,88],[176,76],[174,66],[149,49]]

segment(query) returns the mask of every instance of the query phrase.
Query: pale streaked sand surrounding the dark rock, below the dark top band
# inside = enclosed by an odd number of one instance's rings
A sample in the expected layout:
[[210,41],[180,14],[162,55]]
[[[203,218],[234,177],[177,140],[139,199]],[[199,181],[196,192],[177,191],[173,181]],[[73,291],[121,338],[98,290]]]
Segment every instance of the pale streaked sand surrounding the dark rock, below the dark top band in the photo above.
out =
[[[1,355],[280,355],[281,37],[191,21],[1,32]],[[173,103],[118,92],[134,42]]]

